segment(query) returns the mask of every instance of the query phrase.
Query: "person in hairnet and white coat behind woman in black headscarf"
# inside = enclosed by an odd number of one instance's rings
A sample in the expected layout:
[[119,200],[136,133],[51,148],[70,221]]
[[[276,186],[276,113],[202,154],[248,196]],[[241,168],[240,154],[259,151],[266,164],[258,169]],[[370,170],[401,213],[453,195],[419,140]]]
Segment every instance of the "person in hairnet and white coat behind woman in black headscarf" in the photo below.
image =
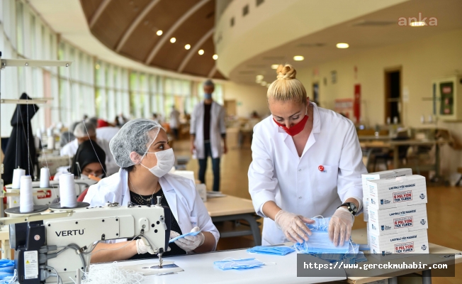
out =
[[112,175],[113,173],[116,173],[119,169],[118,165],[116,165],[116,162],[114,161],[113,155],[111,154],[111,151],[109,150],[109,141],[106,141],[105,139],[101,138],[96,138],[96,125],[93,124],[91,121],[81,121],[77,126],[75,126],[74,129],[74,136],[75,139],[61,148],[60,150],[60,155],[68,155],[70,157],[73,157],[77,153],[77,149],[79,148],[79,145],[83,143],[84,141],[92,140],[100,146],[104,153],[106,153],[106,173],[107,175]]

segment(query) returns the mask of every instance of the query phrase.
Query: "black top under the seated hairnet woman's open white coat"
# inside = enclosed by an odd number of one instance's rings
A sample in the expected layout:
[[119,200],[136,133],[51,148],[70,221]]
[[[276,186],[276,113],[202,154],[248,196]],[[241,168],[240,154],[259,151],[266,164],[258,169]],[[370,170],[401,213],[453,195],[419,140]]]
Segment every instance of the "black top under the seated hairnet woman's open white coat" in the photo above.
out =
[[[167,202],[167,199],[164,196],[164,192],[162,191],[162,188],[156,192],[153,196],[151,195],[141,195],[143,198],[140,197],[140,195],[137,195],[137,193],[133,192],[130,190],[130,201],[132,204],[135,205],[147,205],[147,204],[155,204],[157,203],[157,197],[160,196],[162,197],[160,204],[162,206],[167,206],[169,207],[169,202]],[[152,201],[146,201],[152,197]],[[183,234],[181,232],[180,226],[178,222],[176,221],[175,217],[173,214],[171,214],[171,222],[170,222],[170,229],[171,231],[176,231],[178,234]],[[181,256],[186,254],[186,251],[184,249],[181,249],[179,246],[177,246],[175,243],[169,244],[170,251],[167,251],[162,254],[162,257],[164,256]],[[130,260],[133,259],[143,259],[143,258],[157,258],[157,254],[150,254],[150,253],[145,253],[145,254],[135,254],[135,256],[132,256],[129,258]]]

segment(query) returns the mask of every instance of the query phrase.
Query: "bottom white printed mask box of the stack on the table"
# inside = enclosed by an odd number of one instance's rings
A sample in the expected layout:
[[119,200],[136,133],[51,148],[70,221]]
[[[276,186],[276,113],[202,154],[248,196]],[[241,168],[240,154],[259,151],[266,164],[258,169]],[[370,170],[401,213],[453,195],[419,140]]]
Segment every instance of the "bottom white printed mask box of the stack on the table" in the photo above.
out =
[[427,230],[379,236],[369,231],[371,256],[380,261],[405,258],[409,253],[429,253]]

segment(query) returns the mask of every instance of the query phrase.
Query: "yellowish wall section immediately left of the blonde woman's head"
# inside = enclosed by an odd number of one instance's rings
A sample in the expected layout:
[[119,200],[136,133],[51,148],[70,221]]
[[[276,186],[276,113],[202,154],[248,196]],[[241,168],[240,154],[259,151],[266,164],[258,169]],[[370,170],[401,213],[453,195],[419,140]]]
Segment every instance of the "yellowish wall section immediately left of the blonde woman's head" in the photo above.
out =
[[266,91],[268,90],[266,87],[225,82],[223,88],[223,99],[236,100],[237,116],[248,118],[252,111],[257,111],[261,117],[269,114],[266,103]]

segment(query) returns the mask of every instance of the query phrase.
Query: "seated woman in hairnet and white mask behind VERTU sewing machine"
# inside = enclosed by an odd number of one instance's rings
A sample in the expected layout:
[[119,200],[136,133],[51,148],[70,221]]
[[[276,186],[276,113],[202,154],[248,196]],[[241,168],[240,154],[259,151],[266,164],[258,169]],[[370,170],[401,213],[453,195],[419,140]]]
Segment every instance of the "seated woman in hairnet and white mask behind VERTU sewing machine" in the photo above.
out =
[[[192,180],[169,174],[175,156],[168,144],[167,133],[159,123],[150,119],[128,121],[110,143],[118,173],[91,185],[84,198],[91,207],[107,202],[128,204],[156,204],[170,207],[170,239],[191,231],[201,233],[185,236],[170,244],[163,256],[214,251],[220,234],[212,223]],[[149,243],[141,237],[136,241],[97,244],[91,262],[122,261],[137,258],[157,258]],[[126,246],[125,246],[126,245]],[[125,247],[123,247],[125,246]],[[123,249],[118,249],[123,247]],[[109,249],[103,250],[101,249]]]

